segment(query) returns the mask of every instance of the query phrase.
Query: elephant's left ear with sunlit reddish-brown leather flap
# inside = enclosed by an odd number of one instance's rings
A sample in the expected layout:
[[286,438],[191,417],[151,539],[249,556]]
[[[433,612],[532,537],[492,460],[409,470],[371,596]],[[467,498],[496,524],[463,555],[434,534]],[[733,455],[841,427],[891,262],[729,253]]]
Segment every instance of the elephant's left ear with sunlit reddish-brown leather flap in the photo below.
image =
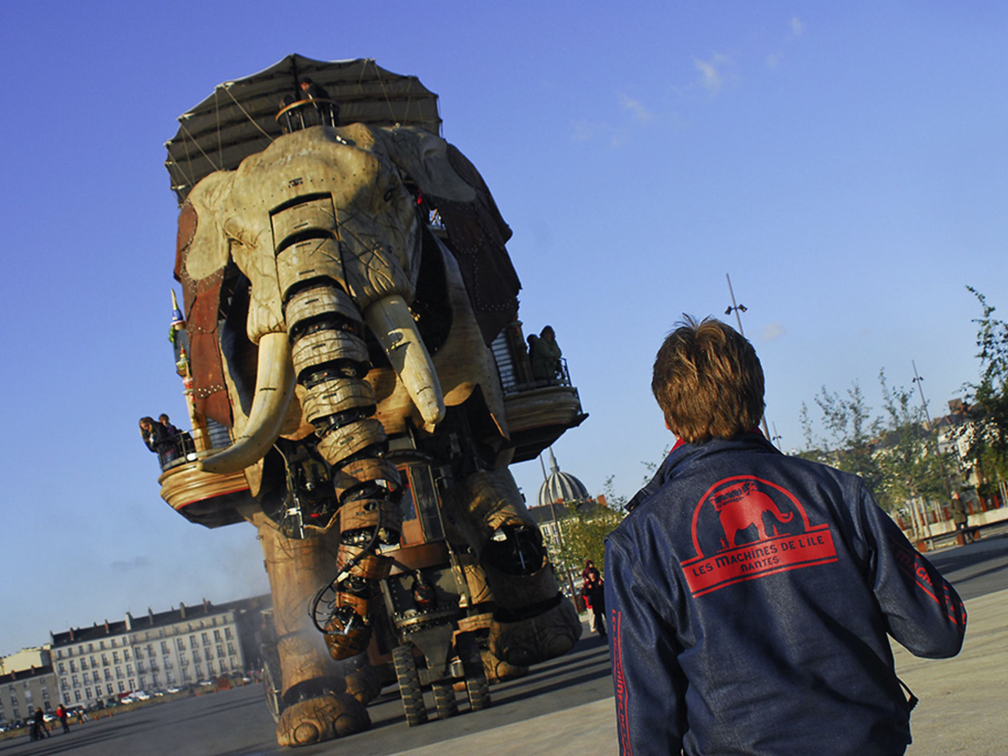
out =
[[[217,183],[216,175],[211,174],[201,181],[178,213],[175,280],[182,284],[185,301],[196,411],[231,427],[234,419],[217,333],[229,244],[207,202],[207,190]],[[208,181],[209,185],[204,186]],[[219,197],[217,192],[211,195]]]

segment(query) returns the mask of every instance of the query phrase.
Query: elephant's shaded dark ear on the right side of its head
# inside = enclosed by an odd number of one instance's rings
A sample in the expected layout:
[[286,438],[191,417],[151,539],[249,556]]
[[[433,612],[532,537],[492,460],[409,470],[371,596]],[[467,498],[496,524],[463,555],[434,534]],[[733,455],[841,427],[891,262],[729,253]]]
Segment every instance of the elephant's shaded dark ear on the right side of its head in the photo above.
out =
[[454,145],[418,128],[379,129],[389,159],[437,209],[484,341],[518,317],[521,281],[505,242],[511,229],[476,166]]

